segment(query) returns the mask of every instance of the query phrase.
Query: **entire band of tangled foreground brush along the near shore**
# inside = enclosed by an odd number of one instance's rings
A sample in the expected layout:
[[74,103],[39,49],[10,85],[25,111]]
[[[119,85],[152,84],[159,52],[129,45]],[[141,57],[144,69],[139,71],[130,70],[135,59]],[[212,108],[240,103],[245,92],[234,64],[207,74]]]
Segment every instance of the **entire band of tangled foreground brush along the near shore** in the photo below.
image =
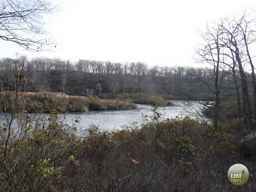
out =
[[[212,129],[190,118],[154,115],[141,127],[77,132],[52,111],[49,119],[17,116],[19,134],[1,151],[0,191],[255,191],[227,179],[242,163],[254,176],[255,159],[241,159],[237,143],[250,132],[236,122]],[[15,126],[16,127],[16,126]],[[8,127],[2,124],[1,145]],[[4,147],[3,147],[4,149]]]

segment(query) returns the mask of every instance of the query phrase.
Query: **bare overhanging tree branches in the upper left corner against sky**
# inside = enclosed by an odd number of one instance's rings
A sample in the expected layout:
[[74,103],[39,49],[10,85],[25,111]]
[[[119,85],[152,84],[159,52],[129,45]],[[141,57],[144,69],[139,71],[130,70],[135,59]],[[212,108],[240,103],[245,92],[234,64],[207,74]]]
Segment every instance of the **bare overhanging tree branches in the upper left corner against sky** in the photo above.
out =
[[53,45],[44,30],[44,16],[56,11],[49,0],[0,0],[0,38],[29,51],[43,51]]

